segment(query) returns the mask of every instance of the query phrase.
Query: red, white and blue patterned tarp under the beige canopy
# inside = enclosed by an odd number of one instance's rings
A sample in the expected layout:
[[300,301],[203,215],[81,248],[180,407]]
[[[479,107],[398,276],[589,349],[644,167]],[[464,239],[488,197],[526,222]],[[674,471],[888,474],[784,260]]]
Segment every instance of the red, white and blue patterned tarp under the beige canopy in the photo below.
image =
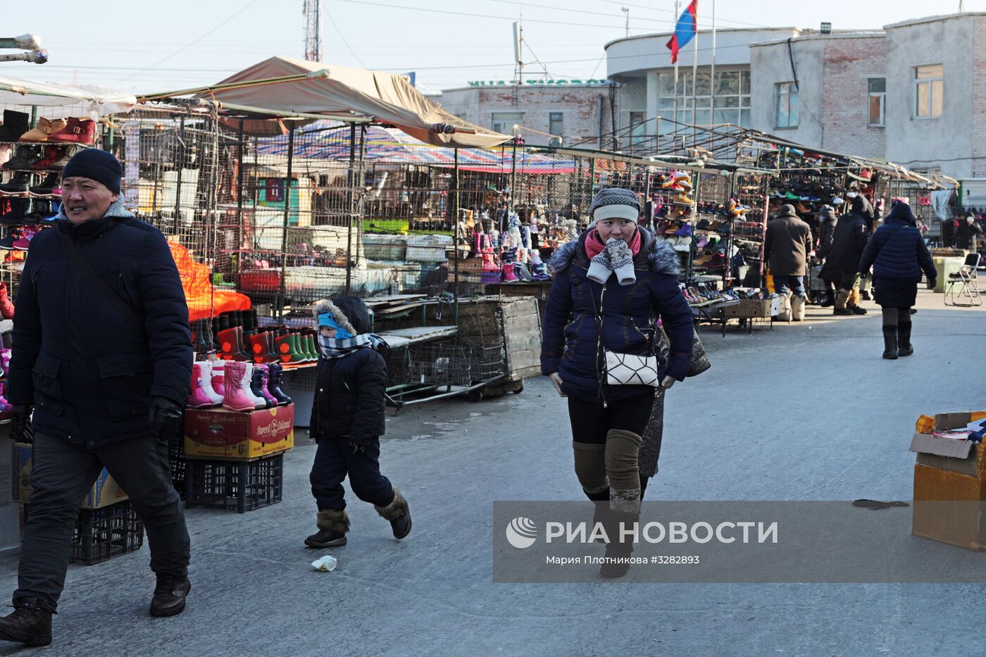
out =
[[[349,160],[349,131],[325,129],[330,125],[318,121],[306,127],[306,136],[295,140],[295,158],[312,160]],[[451,168],[456,162],[453,149],[422,144],[410,135],[395,128],[372,125],[364,136],[364,158],[383,164],[400,163]],[[288,142],[283,137],[261,138],[258,155],[288,155]],[[497,148],[473,148],[458,151],[458,168],[462,171],[486,173],[510,173],[513,167],[514,149],[511,146]],[[522,174],[571,174],[575,161],[570,157],[540,155],[525,148],[517,149],[517,171]]]

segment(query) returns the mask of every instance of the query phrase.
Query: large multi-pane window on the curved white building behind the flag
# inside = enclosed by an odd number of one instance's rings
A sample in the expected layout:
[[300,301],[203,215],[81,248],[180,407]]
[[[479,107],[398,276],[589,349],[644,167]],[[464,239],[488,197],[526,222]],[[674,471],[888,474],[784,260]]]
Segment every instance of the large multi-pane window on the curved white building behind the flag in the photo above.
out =
[[[692,84],[691,71],[680,71],[675,88],[673,73],[659,73],[658,115],[695,125],[749,127],[749,71],[717,69],[714,85],[710,84],[709,71],[699,71],[695,82]],[[675,126],[659,121],[657,130],[668,134]]]

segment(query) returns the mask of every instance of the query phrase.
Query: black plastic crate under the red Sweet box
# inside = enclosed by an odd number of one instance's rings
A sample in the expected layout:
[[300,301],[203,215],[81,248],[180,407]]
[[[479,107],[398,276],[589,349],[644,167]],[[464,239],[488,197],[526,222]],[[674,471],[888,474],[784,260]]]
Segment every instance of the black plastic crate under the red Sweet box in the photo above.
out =
[[252,511],[281,501],[284,455],[257,461],[185,461],[185,506]]

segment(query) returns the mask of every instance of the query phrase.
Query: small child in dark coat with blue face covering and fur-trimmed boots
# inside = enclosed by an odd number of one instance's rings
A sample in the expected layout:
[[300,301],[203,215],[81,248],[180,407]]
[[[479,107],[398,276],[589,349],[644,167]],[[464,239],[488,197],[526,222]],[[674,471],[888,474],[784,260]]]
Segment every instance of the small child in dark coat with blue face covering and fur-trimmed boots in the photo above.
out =
[[393,538],[411,531],[407,501],[380,473],[380,437],[387,392],[387,342],[370,332],[370,311],[358,297],[324,299],[313,306],[318,328],[318,369],[311,433],[318,449],[312,464],[317,533],[308,547],[346,545],[349,516],[342,480],[390,523]]

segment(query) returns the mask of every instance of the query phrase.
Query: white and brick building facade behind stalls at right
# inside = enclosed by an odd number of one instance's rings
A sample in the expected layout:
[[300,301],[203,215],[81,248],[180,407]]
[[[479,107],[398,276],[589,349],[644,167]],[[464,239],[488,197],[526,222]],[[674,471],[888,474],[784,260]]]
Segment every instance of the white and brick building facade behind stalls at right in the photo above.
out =
[[644,118],[646,134],[670,131],[667,118],[734,123],[980,184],[986,205],[986,180],[976,181],[986,179],[986,13],[826,35],[794,28],[719,31],[714,85],[711,35],[701,32],[697,88],[692,43],[680,53],[676,110],[669,38],[605,45],[609,77],[644,87],[642,101],[620,105],[621,125],[631,112]]

